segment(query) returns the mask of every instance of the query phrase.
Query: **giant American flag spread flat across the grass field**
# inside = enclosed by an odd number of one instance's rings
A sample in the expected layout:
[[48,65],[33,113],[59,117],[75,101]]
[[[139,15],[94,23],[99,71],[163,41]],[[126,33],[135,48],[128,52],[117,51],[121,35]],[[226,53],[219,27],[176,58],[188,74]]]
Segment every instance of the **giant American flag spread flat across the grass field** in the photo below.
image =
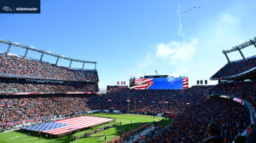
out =
[[48,122],[39,125],[31,125],[23,127],[26,130],[42,131],[52,135],[59,135],[68,131],[78,130],[80,128],[87,128],[103,122],[113,121],[110,118],[101,118],[93,116],[79,116],[77,118],[64,119],[55,122]]

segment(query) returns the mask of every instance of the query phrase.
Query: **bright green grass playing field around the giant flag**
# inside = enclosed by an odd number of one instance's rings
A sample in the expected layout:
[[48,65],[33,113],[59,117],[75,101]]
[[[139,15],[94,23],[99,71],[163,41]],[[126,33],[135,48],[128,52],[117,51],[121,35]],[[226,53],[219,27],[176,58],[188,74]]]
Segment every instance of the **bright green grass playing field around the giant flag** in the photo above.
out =
[[[130,131],[132,129],[140,127],[143,124],[143,122],[150,123],[150,122],[153,122],[154,120],[159,121],[159,119],[163,119],[161,117],[152,118],[151,116],[142,116],[142,115],[140,115],[140,116],[123,115],[123,114],[122,115],[108,115],[108,114],[104,114],[104,113],[93,114],[91,116],[116,118],[116,122],[120,122],[120,121],[122,122],[122,125],[119,125],[118,127],[113,127],[113,128],[109,128],[108,130],[105,130],[105,135],[107,136],[107,141],[110,141],[111,139],[115,138],[115,133],[118,134],[118,130],[120,130],[120,129],[126,130],[126,128],[129,128],[129,131]],[[130,121],[132,121],[132,125],[130,124]],[[162,122],[161,125],[166,126],[169,123],[171,123],[171,119],[169,119],[165,122]],[[110,123],[110,124],[113,124],[113,123]],[[100,127],[103,127],[103,126],[95,127],[95,128],[93,128],[93,130],[96,128],[100,128]],[[42,136],[41,140],[39,140],[38,135],[31,135],[28,138],[27,133],[23,133],[20,131],[10,131],[7,133],[0,134],[0,142],[1,143],[7,143],[7,142],[8,143],[9,142],[12,142],[12,143],[69,142],[73,136],[80,135],[85,132],[88,132],[88,130],[81,131],[79,133],[74,133],[73,135],[65,136],[63,138],[47,139]],[[83,139],[79,139],[74,142],[104,142],[104,131],[99,132],[99,135],[101,136],[99,139],[98,139],[98,133],[97,133],[97,134],[91,135],[90,138],[83,138]],[[120,134],[118,134],[118,135],[120,135]]]

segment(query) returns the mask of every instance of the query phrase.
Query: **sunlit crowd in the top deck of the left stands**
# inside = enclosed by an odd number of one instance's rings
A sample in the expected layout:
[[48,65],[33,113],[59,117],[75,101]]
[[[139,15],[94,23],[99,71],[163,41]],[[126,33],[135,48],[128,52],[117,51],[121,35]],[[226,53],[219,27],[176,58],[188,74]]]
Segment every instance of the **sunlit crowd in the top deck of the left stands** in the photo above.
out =
[[72,70],[55,64],[20,58],[18,56],[0,55],[0,73],[37,76],[39,78],[99,81],[97,71]]

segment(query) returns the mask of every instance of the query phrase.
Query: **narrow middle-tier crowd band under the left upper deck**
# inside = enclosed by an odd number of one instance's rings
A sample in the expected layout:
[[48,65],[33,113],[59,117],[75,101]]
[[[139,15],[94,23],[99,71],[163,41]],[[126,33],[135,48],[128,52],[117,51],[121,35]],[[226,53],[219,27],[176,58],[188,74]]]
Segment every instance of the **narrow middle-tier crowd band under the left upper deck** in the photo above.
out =
[[38,82],[0,82],[0,92],[98,92],[96,84],[46,84]]

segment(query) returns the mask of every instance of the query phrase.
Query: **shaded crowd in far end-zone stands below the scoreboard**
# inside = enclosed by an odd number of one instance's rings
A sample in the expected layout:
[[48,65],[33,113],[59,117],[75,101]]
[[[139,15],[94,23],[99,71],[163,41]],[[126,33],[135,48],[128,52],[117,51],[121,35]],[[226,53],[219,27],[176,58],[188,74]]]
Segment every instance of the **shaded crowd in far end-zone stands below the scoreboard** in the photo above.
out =
[[[107,95],[91,97],[87,104],[91,110],[109,109],[128,111],[135,110],[148,111],[152,114],[161,111],[171,111],[177,113],[179,106],[185,105],[191,99],[204,97],[204,92],[212,86],[194,86],[186,90],[135,90],[130,88],[115,88]],[[118,89],[118,90],[116,90]],[[130,100],[129,107],[127,100]],[[135,101],[135,104],[134,104]],[[168,102],[168,103],[165,103]],[[177,104],[177,105],[173,105]]]

